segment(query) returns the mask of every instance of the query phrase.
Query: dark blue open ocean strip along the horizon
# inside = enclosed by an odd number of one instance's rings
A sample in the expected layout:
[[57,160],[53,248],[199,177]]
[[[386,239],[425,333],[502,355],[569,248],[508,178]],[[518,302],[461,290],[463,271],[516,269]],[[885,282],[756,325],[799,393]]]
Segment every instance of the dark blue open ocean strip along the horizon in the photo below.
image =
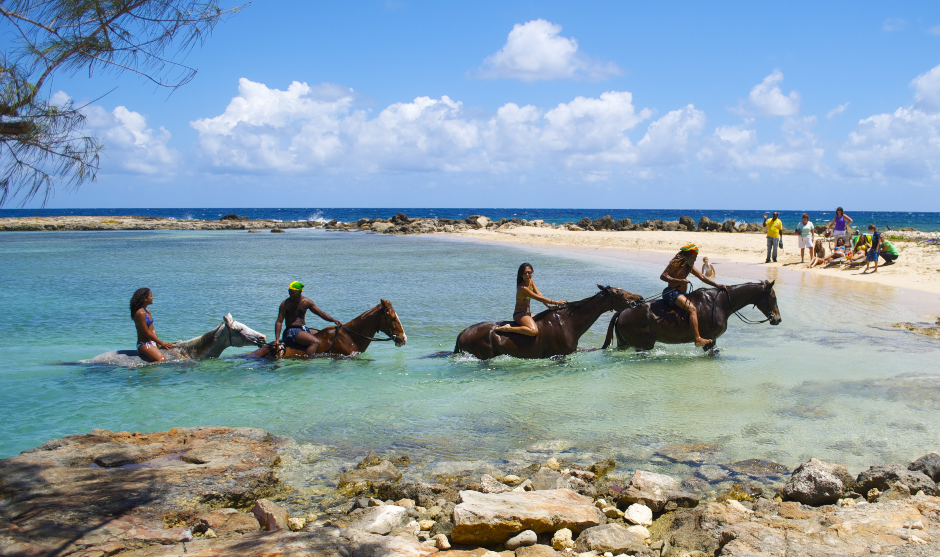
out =
[[[733,218],[738,224],[744,222],[763,222],[762,215],[764,210],[754,211],[732,211],[732,210],[713,210],[700,211],[697,209],[447,209],[447,208],[327,208],[327,207],[305,207],[299,209],[290,208],[246,208],[246,207],[203,207],[203,208],[180,208],[180,209],[141,209],[141,208],[118,208],[118,209],[0,209],[0,216],[65,216],[65,215],[88,215],[88,216],[118,216],[118,215],[146,215],[146,216],[164,216],[174,218],[196,218],[205,220],[217,220],[222,215],[234,213],[237,215],[250,216],[251,218],[279,218],[281,220],[323,220],[337,219],[342,222],[349,222],[363,217],[383,217],[404,213],[412,218],[421,217],[444,217],[444,218],[465,218],[469,215],[487,215],[494,220],[500,218],[512,218],[518,216],[527,220],[540,218],[545,222],[563,223],[576,222],[583,216],[590,218],[600,218],[603,215],[611,215],[615,220],[621,218],[631,218],[634,222],[644,220],[678,220],[682,215],[691,216],[698,221],[702,215],[708,216],[712,220],[724,221]],[[799,222],[803,211],[781,211],[780,219],[784,227],[795,227]],[[823,211],[807,211],[809,220],[815,224],[823,224],[832,219],[835,208]],[[923,211],[915,212],[888,212],[888,211],[846,211],[846,215],[854,219],[854,226],[867,227],[874,224],[881,230],[885,227],[891,229],[900,229],[903,227],[914,227],[919,231],[940,231],[940,213],[930,213]]]

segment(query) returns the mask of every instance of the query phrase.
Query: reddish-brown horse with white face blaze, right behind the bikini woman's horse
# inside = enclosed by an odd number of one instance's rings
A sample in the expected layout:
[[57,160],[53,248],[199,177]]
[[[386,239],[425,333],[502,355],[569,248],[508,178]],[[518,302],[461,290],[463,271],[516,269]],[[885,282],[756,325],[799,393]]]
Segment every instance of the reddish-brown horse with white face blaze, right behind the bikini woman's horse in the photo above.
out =
[[[387,339],[374,338],[379,331],[388,335]],[[313,352],[316,355],[331,354],[338,356],[352,356],[365,352],[372,341],[395,341],[399,348],[408,342],[405,331],[401,328],[399,315],[392,308],[392,303],[382,300],[378,306],[366,311],[362,315],[344,323],[339,327],[328,326],[313,335],[317,339]],[[249,358],[307,358],[311,356],[302,348],[303,346],[287,346],[279,343],[277,350],[272,344],[265,344],[248,355]]]

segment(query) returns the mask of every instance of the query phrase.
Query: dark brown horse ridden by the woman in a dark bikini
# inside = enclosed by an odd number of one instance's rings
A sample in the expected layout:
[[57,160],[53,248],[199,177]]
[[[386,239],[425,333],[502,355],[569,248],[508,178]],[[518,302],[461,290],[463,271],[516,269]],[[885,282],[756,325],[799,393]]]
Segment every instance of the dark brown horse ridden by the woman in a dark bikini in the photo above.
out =
[[487,321],[468,326],[457,335],[454,354],[467,352],[480,359],[509,354],[513,358],[551,358],[571,354],[578,348],[578,339],[594,325],[604,311],[623,310],[643,299],[619,288],[597,285],[601,292],[571,302],[554,310],[544,310],[533,319],[539,334],[527,337],[519,333],[495,333],[493,329],[506,321]]

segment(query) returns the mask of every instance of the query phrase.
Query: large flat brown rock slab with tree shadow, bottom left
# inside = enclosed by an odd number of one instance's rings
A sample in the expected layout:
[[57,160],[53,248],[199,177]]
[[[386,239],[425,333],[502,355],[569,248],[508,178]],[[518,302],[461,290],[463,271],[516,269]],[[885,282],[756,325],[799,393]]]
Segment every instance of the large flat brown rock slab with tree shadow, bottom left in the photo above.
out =
[[[266,431],[247,427],[96,429],[0,460],[2,554],[190,541],[188,526],[200,514],[251,504],[271,491],[280,460],[273,442]],[[150,466],[120,468],[137,463]],[[258,521],[236,519],[232,526],[246,523]]]

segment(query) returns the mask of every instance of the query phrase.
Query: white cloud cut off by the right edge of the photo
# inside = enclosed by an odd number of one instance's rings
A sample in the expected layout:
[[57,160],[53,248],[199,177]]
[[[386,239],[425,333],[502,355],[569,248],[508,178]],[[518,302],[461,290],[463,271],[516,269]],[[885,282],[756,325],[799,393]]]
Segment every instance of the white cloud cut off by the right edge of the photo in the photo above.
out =
[[940,181],[940,65],[911,87],[913,105],[859,120],[838,151],[843,175]]

